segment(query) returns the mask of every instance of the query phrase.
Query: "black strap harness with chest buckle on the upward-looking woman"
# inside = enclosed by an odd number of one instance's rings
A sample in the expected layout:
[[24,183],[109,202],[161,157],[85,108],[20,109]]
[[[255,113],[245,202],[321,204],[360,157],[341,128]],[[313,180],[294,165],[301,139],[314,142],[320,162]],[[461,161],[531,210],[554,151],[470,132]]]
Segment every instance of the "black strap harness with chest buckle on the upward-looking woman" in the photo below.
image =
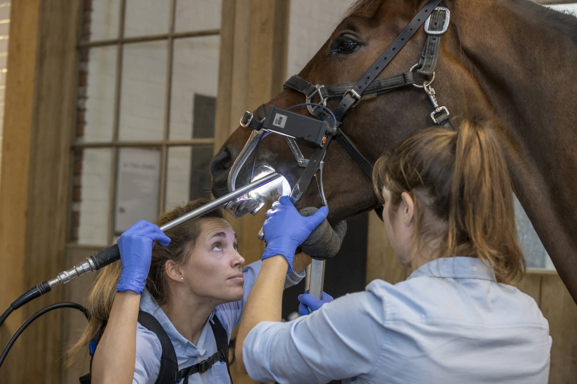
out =
[[[170,341],[164,328],[162,328],[162,325],[160,325],[158,320],[148,312],[138,311],[138,322],[140,325],[144,326],[144,328],[156,334],[156,337],[158,337],[158,340],[160,341],[160,347],[162,348],[160,368],[155,384],[178,383],[183,378],[183,383],[188,384],[188,378],[190,375],[204,373],[218,362],[226,363],[228,377],[230,378],[231,384],[233,383],[233,378],[230,375],[230,367],[228,364],[228,336],[226,330],[224,330],[224,327],[216,315],[213,315],[212,321],[213,322],[209,321],[209,324],[211,325],[212,333],[215,336],[217,351],[208,359],[179,370],[177,354],[174,351],[173,343]],[[90,359],[90,368],[92,371],[92,356]],[[81,377],[80,382],[81,384],[89,384],[91,382],[91,374]]]

